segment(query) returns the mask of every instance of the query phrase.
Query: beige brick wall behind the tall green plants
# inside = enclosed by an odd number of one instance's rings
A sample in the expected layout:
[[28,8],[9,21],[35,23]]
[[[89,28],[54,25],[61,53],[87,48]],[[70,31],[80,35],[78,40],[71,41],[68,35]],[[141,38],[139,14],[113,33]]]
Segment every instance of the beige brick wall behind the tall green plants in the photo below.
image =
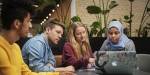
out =
[[[99,0],[94,0],[96,4]],[[106,0],[104,0],[106,1]],[[110,12],[109,20],[122,19],[124,15],[129,15],[130,11],[130,3],[128,0],[115,0],[119,6],[112,9]],[[147,0],[134,0],[133,2],[133,22],[132,22],[132,36],[137,36],[136,30],[139,28],[140,20],[144,11],[144,7],[146,5]],[[83,23],[87,24],[88,27],[92,24],[92,22],[96,21],[95,15],[91,15],[87,12],[86,7],[89,5],[93,5],[93,0],[76,0],[76,10],[77,15],[81,17]],[[148,20],[150,21],[150,19]],[[126,27],[127,24],[124,23]]]

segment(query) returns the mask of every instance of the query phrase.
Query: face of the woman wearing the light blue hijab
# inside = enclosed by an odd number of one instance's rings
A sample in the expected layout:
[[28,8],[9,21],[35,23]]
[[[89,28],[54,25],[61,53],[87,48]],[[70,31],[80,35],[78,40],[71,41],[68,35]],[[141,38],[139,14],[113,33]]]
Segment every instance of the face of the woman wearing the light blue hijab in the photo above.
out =
[[108,31],[108,37],[110,41],[114,44],[119,42],[120,32],[116,27],[111,27]]

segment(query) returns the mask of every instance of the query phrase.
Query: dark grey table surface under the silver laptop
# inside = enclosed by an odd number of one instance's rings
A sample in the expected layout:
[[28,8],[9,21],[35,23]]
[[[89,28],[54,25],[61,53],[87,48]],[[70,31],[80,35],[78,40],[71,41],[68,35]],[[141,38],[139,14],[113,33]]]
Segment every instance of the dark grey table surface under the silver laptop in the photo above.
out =
[[[76,71],[76,75],[101,75],[101,74],[97,74],[94,70],[85,70],[84,69],[84,70],[78,70],[78,71]],[[140,70],[135,70],[133,72],[133,75],[150,75],[150,73],[143,72],[143,71],[140,71]]]

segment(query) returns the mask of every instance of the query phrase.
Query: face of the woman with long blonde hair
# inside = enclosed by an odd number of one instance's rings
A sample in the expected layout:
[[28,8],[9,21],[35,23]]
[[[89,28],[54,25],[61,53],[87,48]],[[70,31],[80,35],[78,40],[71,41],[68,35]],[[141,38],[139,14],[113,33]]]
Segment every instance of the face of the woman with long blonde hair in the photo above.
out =
[[82,26],[78,26],[76,29],[75,29],[75,38],[78,42],[84,42],[86,41],[86,36],[87,36],[87,33],[86,33],[86,29],[85,27],[82,27]]

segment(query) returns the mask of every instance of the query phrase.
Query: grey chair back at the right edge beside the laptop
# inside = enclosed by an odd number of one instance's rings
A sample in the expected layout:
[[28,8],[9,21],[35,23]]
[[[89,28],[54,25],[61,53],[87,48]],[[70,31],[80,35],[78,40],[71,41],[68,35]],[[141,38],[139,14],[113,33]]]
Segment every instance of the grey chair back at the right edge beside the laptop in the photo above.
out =
[[144,72],[150,72],[150,54],[137,54],[137,67]]

